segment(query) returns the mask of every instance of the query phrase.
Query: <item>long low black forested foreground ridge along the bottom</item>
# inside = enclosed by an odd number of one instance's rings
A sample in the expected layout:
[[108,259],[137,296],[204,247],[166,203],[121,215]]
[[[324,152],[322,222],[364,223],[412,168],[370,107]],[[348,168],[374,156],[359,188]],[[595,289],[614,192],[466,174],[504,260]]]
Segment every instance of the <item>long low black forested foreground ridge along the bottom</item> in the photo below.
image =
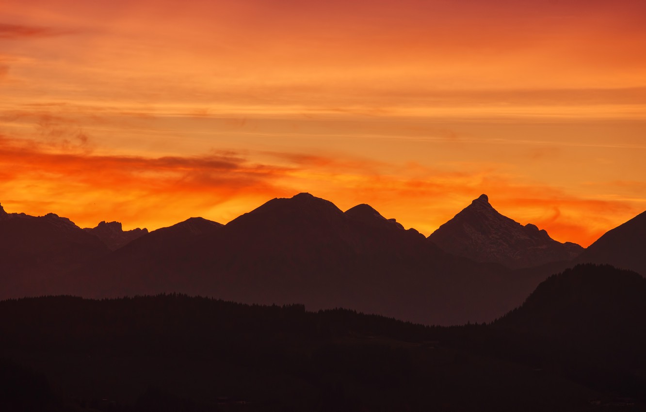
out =
[[537,370],[514,331],[182,295],[10,300],[0,409],[610,411],[621,395],[636,398],[621,410],[644,410],[638,390],[572,373],[599,358],[554,360],[545,340],[543,362],[557,364]]

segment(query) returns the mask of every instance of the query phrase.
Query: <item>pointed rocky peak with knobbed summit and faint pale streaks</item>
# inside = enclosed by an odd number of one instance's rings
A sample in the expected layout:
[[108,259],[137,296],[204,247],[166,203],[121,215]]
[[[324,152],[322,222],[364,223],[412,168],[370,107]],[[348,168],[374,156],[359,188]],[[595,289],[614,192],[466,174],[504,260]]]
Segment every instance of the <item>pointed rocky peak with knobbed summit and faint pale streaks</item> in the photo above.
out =
[[497,212],[486,194],[441,225],[428,239],[446,252],[512,269],[576,258],[583,248],[560,243],[535,225],[521,225]]

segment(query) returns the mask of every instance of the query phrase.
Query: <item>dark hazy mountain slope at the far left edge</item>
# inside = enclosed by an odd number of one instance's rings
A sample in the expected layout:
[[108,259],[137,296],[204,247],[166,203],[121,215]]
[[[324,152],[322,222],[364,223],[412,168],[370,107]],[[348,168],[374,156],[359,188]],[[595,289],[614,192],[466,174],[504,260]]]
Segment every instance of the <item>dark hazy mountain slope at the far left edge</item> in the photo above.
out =
[[67,218],[6,213],[0,206],[0,298],[48,293],[53,278],[109,252]]

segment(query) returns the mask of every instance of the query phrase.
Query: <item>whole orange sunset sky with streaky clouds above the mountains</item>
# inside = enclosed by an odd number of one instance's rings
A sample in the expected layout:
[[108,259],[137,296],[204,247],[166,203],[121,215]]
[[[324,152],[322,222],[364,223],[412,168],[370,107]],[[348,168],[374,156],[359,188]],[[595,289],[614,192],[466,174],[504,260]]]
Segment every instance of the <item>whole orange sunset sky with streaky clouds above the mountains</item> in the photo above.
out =
[[227,223],[310,192],[428,235],[486,193],[587,246],[646,210],[642,0],[3,0],[0,203]]

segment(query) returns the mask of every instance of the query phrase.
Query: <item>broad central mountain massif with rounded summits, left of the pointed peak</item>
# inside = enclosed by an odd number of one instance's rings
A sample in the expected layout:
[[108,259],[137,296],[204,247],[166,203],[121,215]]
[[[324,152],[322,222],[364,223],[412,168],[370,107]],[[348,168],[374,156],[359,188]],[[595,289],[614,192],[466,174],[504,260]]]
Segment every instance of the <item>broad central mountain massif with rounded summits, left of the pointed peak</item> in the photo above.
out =
[[343,212],[307,193],[267,201],[224,227],[184,227],[198,221],[141,236],[72,271],[52,293],[178,292],[461,324],[502,316],[544,278],[453,256],[368,205]]

